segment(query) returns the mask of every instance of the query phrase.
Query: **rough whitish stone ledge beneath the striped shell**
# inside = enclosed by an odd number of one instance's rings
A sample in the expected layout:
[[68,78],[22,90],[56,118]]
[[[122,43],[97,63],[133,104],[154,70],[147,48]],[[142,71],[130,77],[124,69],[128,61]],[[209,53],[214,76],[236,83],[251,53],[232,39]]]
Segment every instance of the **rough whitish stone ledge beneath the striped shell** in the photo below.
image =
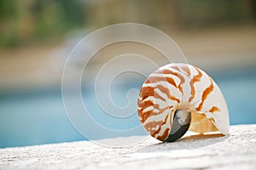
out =
[[174,143],[144,136],[105,142],[140,139],[126,147],[82,141],[1,149],[0,169],[256,169],[256,125],[231,126],[229,136],[194,135]]

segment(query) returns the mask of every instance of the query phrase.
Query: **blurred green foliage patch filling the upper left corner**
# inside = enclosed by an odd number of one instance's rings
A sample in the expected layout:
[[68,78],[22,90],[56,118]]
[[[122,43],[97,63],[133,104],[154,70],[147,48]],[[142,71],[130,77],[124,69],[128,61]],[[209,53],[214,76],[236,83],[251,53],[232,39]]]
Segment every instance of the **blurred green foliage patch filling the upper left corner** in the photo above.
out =
[[0,0],[0,46],[61,37],[84,18],[79,0]]

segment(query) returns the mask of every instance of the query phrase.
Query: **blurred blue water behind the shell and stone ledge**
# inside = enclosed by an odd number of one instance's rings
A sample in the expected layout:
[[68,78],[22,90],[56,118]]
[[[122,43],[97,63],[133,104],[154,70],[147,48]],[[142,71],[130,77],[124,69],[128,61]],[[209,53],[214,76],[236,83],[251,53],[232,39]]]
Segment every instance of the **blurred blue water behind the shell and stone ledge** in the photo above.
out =
[[[256,68],[212,72],[230,110],[230,124],[256,123]],[[130,88],[140,88],[143,79],[115,88],[117,103]],[[108,119],[96,105],[92,90],[83,90],[90,112],[103,126],[126,129],[140,124],[137,114],[129,120]],[[89,100],[88,100],[89,99]],[[137,101],[135,101],[137,102]],[[84,122],[86,123],[86,122]],[[96,132],[100,133],[100,132]],[[145,134],[143,131],[137,134]],[[69,122],[61,99],[61,89],[0,93],[0,147],[84,140]]]

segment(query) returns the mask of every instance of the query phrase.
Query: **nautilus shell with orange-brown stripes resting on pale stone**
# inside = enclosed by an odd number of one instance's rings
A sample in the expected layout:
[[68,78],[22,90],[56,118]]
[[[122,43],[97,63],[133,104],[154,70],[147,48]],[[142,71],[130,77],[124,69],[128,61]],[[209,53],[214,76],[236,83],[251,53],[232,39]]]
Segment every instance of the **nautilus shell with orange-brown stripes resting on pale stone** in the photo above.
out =
[[229,133],[229,111],[218,85],[205,71],[173,63],[154,71],[140,90],[138,116],[154,138],[172,142],[188,130]]

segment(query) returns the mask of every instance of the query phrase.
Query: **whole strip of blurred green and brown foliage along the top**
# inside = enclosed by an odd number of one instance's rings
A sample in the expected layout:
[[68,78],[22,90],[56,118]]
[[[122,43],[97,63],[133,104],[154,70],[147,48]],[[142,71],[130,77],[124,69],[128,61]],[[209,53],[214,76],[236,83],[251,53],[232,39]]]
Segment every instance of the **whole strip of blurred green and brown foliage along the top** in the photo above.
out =
[[0,47],[47,42],[121,22],[201,29],[255,23],[255,0],[0,0]]

